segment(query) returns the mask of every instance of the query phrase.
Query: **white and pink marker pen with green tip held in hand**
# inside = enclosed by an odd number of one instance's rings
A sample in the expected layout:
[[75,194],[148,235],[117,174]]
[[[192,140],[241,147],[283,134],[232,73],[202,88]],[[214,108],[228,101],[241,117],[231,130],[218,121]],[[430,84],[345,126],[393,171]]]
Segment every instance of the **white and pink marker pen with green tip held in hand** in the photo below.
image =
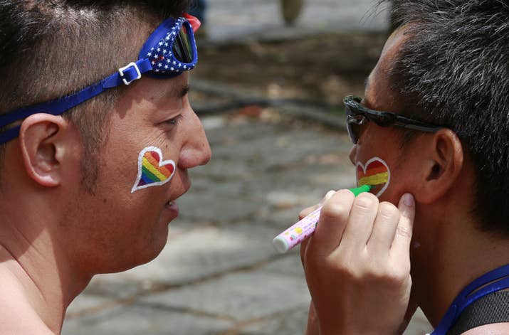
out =
[[[354,193],[355,196],[358,196],[360,193],[369,192],[371,188],[372,186],[370,185],[364,185],[357,188],[350,188],[350,191]],[[280,253],[285,253],[310,235],[313,235],[316,225],[318,225],[321,210],[321,207],[318,208],[310,215],[298,221],[298,223],[295,223],[295,225],[283,231],[283,233],[277,235],[272,241],[274,248]]]

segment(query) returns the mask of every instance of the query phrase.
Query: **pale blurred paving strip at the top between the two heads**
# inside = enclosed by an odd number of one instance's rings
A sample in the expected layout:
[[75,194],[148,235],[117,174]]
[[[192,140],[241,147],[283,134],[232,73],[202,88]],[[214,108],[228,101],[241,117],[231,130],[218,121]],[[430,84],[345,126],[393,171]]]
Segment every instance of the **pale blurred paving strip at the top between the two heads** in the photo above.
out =
[[296,38],[338,30],[385,30],[387,12],[372,15],[372,0],[307,0],[295,26],[285,27],[278,0],[214,0],[209,6],[209,40]]

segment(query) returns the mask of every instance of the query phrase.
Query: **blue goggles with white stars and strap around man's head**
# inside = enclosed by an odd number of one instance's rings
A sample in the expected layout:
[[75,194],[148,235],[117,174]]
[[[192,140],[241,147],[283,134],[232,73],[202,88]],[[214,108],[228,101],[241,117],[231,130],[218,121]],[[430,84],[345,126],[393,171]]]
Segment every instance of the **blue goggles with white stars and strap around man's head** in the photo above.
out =
[[21,128],[19,121],[30,115],[36,113],[61,115],[105,90],[130,85],[142,78],[143,74],[152,78],[173,78],[184,71],[192,70],[198,62],[194,31],[199,26],[198,19],[189,14],[184,14],[184,17],[180,18],[168,18],[149,36],[136,62],[119,68],[117,72],[79,92],[0,115],[0,129],[18,122],[14,127],[8,127],[4,132],[0,132],[0,144],[18,137]]

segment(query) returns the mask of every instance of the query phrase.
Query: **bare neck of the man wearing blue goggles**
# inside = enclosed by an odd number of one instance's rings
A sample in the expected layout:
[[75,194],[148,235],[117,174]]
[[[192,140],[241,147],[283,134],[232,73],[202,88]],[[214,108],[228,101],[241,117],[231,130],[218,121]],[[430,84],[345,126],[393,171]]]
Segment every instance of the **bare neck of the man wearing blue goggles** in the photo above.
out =
[[10,287],[4,288],[16,296],[4,301],[5,308],[23,302],[25,307],[18,307],[26,312],[26,318],[33,319],[33,324],[41,321],[51,333],[60,334],[65,309],[90,278],[73,271],[65,250],[56,243],[52,232],[56,220],[50,211],[41,213],[33,208],[11,211],[2,218],[0,280],[9,283]]

